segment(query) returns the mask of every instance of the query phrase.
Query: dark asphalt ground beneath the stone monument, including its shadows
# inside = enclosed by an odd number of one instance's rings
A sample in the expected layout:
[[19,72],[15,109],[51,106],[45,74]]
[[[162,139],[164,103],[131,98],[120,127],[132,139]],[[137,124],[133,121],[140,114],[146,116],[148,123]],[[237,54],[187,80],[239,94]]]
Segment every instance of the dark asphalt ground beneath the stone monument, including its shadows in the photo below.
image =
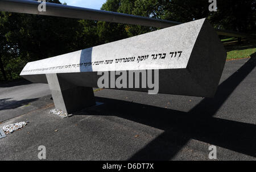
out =
[[256,160],[255,58],[226,62],[214,98],[101,90],[104,104],[64,119],[47,85],[1,85],[0,127],[30,123],[0,139],[0,160],[38,160],[39,145],[47,160],[209,160],[210,145],[217,160]]

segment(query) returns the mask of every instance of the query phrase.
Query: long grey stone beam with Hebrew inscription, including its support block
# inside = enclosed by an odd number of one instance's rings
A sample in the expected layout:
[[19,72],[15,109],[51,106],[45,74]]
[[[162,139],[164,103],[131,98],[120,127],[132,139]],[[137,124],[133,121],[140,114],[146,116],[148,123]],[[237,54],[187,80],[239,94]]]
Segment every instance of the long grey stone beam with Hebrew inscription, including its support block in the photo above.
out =
[[[214,28],[207,20],[200,19],[112,43],[28,62],[20,75],[31,82],[49,83],[51,91],[54,90],[52,95],[55,106],[60,107],[61,110],[71,104],[67,99],[81,101],[85,99],[87,103],[71,108],[71,111],[75,111],[74,109],[78,110],[86,104],[90,106],[94,101],[92,89],[82,90],[80,87],[98,87],[97,81],[101,75],[97,75],[97,72],[106,71],[130,72],[154,69],[159,71],[159,93],[213,97],[220,82],[225,60],[225,49]],[[66,86],[67,88],[63,89]],[[79,87],[81,91],[75,94],[68,93],[68,97],[59,96],[64,95],[64,90],[65,93],[68,92],[67,90],[72,92],[75,87]],[[119,88],[114,87],[114,89]],[[147,91],[142,88],[127,90]],[[86,92],[85,95],[80,94],[83,91]],[[56,102],[65,105],[57,105]]]

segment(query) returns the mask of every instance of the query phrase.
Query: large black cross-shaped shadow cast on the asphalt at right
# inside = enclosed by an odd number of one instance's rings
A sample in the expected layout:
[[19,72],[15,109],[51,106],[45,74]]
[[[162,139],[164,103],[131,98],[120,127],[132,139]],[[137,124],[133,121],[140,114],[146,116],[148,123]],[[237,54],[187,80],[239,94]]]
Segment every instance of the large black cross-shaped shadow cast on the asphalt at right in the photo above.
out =
[[204,98],[189,112],[100,97],[96,100],[104,104],[84,112],[115,115],[164,130],[130,160],[170,160],[190,139],[256,157],[256,125],[212,117],[255,65],[256,53],[218,86],[214,98]]

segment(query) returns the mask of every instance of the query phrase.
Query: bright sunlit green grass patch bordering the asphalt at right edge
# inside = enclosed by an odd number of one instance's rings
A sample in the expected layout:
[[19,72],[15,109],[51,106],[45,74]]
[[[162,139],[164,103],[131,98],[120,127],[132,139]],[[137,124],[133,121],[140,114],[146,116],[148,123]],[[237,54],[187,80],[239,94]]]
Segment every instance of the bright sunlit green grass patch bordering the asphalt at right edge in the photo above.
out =
[[233,60],[238,58],[246,58],[250,57],[251,54],[256,52],[256,48],[248,48],[248,49],[241,49],[241,50],[233,50],[227,52],[226,59]]

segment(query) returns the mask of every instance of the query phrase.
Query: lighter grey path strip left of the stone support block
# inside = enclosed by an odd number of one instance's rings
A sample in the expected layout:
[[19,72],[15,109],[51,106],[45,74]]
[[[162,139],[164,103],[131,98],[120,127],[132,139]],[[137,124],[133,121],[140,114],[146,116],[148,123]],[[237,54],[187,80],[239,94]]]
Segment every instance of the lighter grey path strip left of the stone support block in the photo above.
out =
[[27,81],[0,85],[0,122],[52,104],[47,84]]

